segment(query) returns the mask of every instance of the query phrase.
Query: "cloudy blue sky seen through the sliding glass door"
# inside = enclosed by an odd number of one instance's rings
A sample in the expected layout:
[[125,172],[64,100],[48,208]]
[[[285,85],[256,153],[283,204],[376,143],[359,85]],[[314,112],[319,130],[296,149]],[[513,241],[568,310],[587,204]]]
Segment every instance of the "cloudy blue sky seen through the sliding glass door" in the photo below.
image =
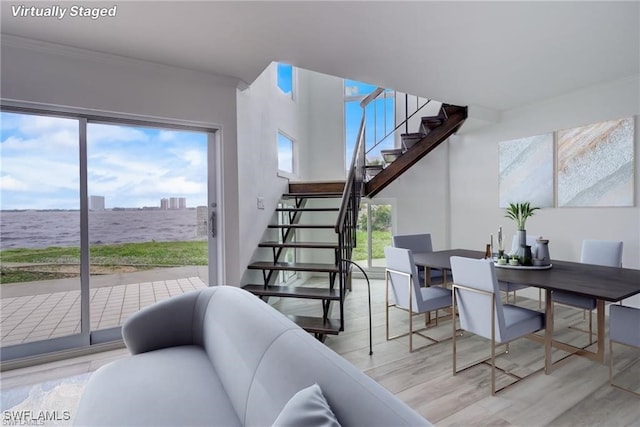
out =
[[[0,208],[78,209],[78,122],[0,113]],[[206,205],[207,135],[90,123],[89,195],[107,208]]]

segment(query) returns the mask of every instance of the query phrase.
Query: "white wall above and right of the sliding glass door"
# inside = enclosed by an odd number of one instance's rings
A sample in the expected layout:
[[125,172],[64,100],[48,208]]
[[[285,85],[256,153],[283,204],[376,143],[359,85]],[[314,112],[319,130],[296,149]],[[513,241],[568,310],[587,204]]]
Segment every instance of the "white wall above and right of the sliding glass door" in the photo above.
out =
[[5,35],[1,53],[3,100],[220,128],[226,280],[238,283],[236,80]]

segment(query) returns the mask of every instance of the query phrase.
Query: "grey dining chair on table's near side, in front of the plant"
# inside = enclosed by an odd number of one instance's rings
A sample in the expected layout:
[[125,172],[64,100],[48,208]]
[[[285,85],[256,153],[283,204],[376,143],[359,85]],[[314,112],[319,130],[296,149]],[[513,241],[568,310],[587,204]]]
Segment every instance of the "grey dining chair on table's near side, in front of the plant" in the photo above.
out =
[[[545,327],[543,313],[502,303],[495,269],[495,265],[490,260],[451,257],[454,307],[453,375],[490,360],[492,395],[507,387],[496,390],[496,369],[515,378],[515,382],[526,378],[526,376],[520,377],[496,366],[496,345],[505,344],[505,353],[507,353],[509,342],[540,331]],[[456,366],[456,312],[460,317],[462,331],[468,331],[491,340],[491,356],[489,358],[460,370]]]

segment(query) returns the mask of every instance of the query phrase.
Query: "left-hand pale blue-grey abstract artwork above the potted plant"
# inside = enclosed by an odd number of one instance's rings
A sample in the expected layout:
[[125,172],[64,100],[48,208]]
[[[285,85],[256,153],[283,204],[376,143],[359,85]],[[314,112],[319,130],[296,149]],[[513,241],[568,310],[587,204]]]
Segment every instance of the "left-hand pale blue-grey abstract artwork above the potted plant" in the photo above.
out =
[[500,207],[553,206],[553,133],[498,144]]

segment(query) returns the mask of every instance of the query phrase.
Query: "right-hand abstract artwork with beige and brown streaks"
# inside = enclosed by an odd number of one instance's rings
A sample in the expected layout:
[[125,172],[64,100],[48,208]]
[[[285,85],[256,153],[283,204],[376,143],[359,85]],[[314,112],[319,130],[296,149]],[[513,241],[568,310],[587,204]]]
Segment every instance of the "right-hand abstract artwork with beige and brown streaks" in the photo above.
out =
[[558,206],[633,206],[633,118],[558,131]]

